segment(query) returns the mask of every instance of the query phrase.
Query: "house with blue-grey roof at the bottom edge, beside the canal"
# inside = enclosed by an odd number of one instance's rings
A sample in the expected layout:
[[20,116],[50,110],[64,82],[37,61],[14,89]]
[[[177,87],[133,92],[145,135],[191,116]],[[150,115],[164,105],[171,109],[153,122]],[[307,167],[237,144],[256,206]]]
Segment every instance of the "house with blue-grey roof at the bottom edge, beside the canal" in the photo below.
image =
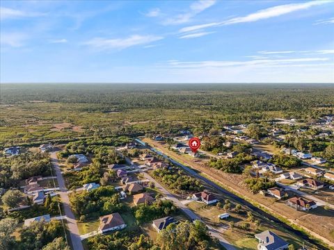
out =
[[269,230],[255,234],[255,239],[259,241],[258,250],[282,250],[289,247],[288,242]]

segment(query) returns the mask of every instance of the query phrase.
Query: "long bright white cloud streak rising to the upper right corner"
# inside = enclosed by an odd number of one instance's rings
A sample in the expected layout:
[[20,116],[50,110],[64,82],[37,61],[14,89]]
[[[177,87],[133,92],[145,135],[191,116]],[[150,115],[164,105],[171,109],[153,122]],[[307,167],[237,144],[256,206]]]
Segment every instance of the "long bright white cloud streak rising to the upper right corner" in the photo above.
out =
[[266,8],[264,10],[259,10],[257,12],[251,13],[244,17],[234,17],[232,19],[228,19],[223,22],[212,22],[208,24],[200,24],[196,26],[188,26],[180,29],[180,32],[190,32],[190,31],[198,31],[202,28],[209,28],[214,26],[224,26],[231,24],[240,24],[247,22],[257,22],[262,19],[269,19],[271,17],[279,17],[281,15],[289,14],[291,12],[295,12],[298,10],[306,10],[311,8],[312,6],[319,6],[324,3],[331,3],[331,1],[309,1],[305,3],[290,3],[284,4],[280,6],[274,6],[271,8]]

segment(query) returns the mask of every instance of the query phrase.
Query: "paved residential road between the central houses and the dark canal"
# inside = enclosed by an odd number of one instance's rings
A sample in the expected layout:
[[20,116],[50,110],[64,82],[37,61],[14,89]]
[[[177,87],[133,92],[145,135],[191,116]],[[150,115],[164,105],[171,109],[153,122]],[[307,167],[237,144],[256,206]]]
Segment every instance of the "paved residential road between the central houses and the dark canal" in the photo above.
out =
[[[129,158],[126,157],[125,160],[127,160],[127,163],[131,165],[132,162]],[[133,166],[138,167],[136,164],[134,164]],[[160,183],[158,183],[154,178],[152,178],[152,176],[150,176],[150,174],[148,174],[146,172],[142,172],[142,173],[143,173],[143,176],[145,178],[147,178],[148,180],[152,181],[152,183],[154,183],[155,188],[157,188],[159,190],[159,192],[161,192],[161,194],[164,194],[164,196],[166,197],[165,199],[173,201],[175,206],[180,208],[186,215],[188,215],[188,217],[190,219],[192,219],[192,220],[198,219],[201,222],[203,222],[202,219],[198,215],[196,215],[196,213],[193,213],[193,211],[191,209],[189,209],[186,205],[184,205],[184,203],[182,203],[179,199],[177,199],[177,197],[175,197],[168,190],[166,190],[166,188],[164,188]],[[207,228],[209,230],[210,235],[212,235],[213,238],[216,238],[225,249],[236,250],[230,244],[230,242],[225,240],[223,238],[223,236],[215,228],[212,228],[212,226],[209,226],[209,225],[207,225]]]

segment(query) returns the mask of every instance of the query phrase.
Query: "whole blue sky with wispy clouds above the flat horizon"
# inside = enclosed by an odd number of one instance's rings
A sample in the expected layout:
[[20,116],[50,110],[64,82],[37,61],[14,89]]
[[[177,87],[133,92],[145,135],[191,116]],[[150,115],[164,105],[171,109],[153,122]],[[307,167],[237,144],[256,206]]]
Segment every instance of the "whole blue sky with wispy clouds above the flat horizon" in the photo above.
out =
[[1,1],[0,82],[333,83],[334,1]]

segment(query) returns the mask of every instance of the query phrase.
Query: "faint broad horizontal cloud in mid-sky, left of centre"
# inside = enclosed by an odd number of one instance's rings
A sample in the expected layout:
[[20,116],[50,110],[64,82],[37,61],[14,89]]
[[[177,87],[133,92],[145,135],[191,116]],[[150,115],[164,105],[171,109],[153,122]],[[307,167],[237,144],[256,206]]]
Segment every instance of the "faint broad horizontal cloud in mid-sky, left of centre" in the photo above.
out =
[[136,45],[148,44],[161,40],[163,37],[156,35],[131,35],[128,38],[93,38],[84,44],[100,50],[126,49]]

